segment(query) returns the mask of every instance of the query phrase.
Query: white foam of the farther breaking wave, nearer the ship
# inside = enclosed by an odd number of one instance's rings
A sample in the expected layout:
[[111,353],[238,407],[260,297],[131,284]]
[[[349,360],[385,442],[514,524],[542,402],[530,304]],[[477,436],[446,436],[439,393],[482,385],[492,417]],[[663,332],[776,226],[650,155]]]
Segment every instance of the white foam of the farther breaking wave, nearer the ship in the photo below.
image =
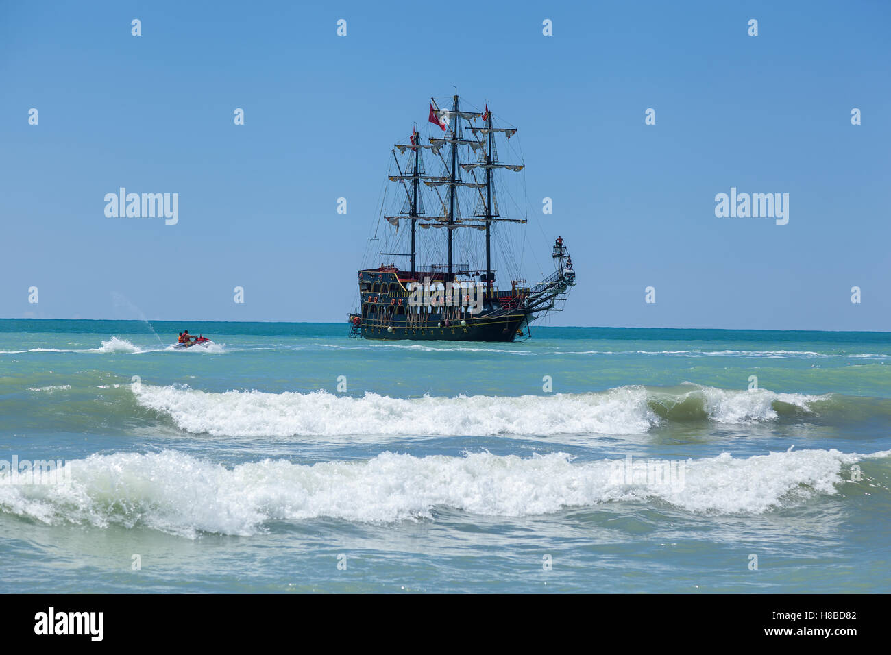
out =
[[[825,397],[696,386],[662,392],[619,387],[551,396],[364,397],[326,391],[213,393],[181,386],[132,387],[140,405],[170,416],[180,430],[215,437],[339,435],[495,436],[643,434],[664,419],[720,423],[772,421],[775,403],[809,405]],[[692,407],[684,407],[684,403]],[[658,410],[657,411],[654,411]]]

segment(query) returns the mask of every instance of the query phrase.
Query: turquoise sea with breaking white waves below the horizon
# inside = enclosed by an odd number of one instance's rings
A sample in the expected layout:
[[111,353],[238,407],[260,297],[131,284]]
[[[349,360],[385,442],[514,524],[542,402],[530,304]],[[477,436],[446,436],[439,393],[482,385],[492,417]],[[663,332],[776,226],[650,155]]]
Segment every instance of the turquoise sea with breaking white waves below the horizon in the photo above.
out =
[[891,591],[891,333],[347,332],[0,320],[0,590]]

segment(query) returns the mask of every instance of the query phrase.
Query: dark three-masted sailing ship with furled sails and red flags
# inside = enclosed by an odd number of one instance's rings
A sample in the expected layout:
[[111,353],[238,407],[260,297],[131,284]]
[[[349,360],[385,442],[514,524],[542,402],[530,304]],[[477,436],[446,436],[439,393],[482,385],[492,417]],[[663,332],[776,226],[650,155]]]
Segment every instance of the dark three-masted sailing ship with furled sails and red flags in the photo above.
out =
[[[535,319],[560,311],[576,284],[572,259],[560,236],[552,247],[552,274],[534,286],[519,276],[521,256],[503,237],[508,228],[527,223],[526,194],[523,189],[521,201],[516,201],[511,184],[503,184],[501,177],[525,168],[515,146],[517,127],[496,125],[488,102],[484,111],[470,111],[473,108],[462,102],[457,90],[451,101],[451,109],[440,109],[436,99],[430,99],[428,122],[435,127],[429,127],[433,133],[429,143],[421,143],[415,125],[409,143],[394,144],[388,179],[396,184],[395,202],[401,209],[387,215],[385,192],[378,225],[385,226],[388,234],[386,247],[376,254],[399,259],[359,270],[359,307],[348,316],[351,337],[457,341],[531,337]],[[512,143],[511,137],[515,137]],[[499,148],[517,160],[500,161]],[[438,168],[438,175],[428,174],[425,159]],[[425,213],[431,205],[437,211]],[[508,205],[521,216],[503,216],[501,208]],[[405,224],[409,229],[400,234]],[[479,233],[485,233],[485,242]],[[424,238],[419,239],[421,235]],[[494,252],[494,241],[503,245],[502,251]],[[380,246],[377,229],[370,246]],[[428,261],[445,259],[445,263],[422,264],[421,253]],[[496,257],[513,271],[507,277],[509,289],[495,284],[496,275],[501,275]],[[462,258],[473,264],[458,263]]]

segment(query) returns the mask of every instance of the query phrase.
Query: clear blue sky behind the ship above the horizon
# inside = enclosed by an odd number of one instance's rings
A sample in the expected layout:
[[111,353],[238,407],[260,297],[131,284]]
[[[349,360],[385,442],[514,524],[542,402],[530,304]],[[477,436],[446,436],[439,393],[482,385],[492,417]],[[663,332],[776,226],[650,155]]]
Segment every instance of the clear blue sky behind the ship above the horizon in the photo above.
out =
[[[567,240],[552,324],[887,331],[889,28],[887,2],[4,2],[0,315],[345,321],[392,143],[456,85],[520,129],[535,257]],[[179,224],[105,217],[120,186],[178,192]],[[715,217],[732,186],[788,192],[789,225]]]

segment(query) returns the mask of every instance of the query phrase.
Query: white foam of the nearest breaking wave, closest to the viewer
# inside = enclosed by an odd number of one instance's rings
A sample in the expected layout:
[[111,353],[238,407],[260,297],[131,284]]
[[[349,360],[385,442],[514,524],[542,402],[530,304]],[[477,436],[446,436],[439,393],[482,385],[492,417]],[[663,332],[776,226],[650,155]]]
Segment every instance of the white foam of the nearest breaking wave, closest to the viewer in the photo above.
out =
[[835,494],[849,479],[846,466],[888,455],[721,454],[687,460],[683,486],[656,487],[617,479],[614,462],[574,463],[562,453],[383,453],[364,462],[264,460],[233,468],[176,451],[94,454],[66,464],[72,467],[67,486],[11,486],[2,484],[0,474],[0,511],[48,524],[145,527],[189,537],[249,536],[269,520],[430,518],[437,507],[518,517],[624,502],[758,514]]

